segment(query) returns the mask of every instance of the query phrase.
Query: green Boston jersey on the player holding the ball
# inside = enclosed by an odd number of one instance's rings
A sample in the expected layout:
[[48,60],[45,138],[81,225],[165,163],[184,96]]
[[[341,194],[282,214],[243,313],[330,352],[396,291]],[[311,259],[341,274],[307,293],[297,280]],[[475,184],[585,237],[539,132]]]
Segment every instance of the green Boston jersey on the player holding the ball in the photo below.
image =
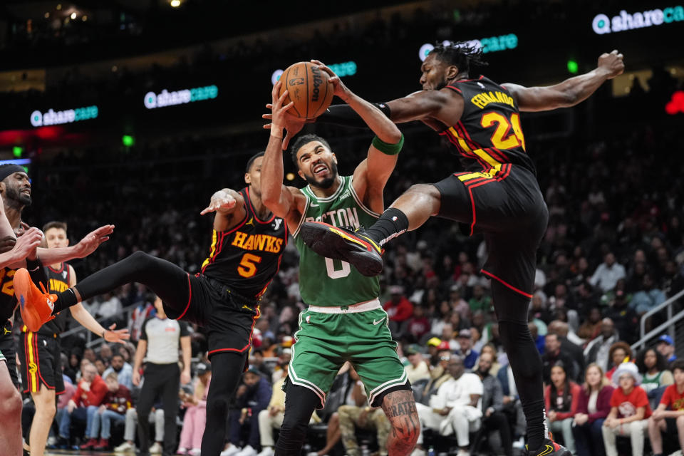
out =
[[[318,198],[310,186],[301,191],[306,195],[306,209],[299,222],[326,222],[335,227],[370,227],[380,214],[368,209],[351,185],[352,176],[341,176],[342,184],[327,198]],[[371,301],[380,294],[378,277],[363,276],[346,261],[324,258],[306,247],[299,237],[299,227],[293,233],[299,250],[299,293],[310,306],[351,306]]]

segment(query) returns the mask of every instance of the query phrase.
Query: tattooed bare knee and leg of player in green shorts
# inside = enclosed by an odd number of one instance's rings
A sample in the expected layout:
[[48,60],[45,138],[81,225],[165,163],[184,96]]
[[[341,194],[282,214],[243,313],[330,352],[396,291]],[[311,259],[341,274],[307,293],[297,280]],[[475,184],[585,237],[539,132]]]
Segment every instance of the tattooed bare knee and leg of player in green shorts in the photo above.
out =
[[383,399],[383,410],[392,425],[387,438],[388,454],[410,455],[420,432],[413,392],[399,390],[389,393]]

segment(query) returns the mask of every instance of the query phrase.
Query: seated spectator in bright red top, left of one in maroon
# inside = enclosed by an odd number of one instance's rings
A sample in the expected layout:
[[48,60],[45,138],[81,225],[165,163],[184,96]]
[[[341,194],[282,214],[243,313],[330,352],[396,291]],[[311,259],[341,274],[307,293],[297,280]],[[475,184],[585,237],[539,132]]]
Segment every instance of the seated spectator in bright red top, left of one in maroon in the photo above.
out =
[[109,389],[105,380],[98,375],[98,370],[93,363],[88,362],[83,367],[83,377],[78,382],[76,393],[66,405],[66,412],[62,415],[59,423],[60,437],[69,439],[69,427],[72,418],[86,422],[86,435],[90,435],[90,426],[93,424],[93,416],[102,405]]

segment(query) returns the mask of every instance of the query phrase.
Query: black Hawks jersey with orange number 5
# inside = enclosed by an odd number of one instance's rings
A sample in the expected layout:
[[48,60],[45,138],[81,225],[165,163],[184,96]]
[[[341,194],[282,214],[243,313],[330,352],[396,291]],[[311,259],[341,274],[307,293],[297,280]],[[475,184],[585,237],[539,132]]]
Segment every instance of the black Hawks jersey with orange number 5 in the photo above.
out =
[[239,193],[244,197],[247,215],[229,231],[214,229],[202,274],[246,298],[258,299],[280,267],[287,244],[287,224],[275,215],[268,220],[259,219],[249,199],[249,188]]

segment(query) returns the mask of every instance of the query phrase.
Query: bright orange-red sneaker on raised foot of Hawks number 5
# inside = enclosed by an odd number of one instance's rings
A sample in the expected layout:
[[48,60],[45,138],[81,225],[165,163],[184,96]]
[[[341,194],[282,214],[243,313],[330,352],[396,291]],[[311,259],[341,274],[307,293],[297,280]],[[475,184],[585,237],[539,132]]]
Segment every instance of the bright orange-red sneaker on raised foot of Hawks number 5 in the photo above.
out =
[[14,273],[14,295],[19,301],[19,311],[28,331],[36,332],[43,323],[55,318],[52,310],[57,301],[56,294],[49,294],[45,286],[41,284],[43,291],[33,284],[31,275],[24,268],[17,269]]

